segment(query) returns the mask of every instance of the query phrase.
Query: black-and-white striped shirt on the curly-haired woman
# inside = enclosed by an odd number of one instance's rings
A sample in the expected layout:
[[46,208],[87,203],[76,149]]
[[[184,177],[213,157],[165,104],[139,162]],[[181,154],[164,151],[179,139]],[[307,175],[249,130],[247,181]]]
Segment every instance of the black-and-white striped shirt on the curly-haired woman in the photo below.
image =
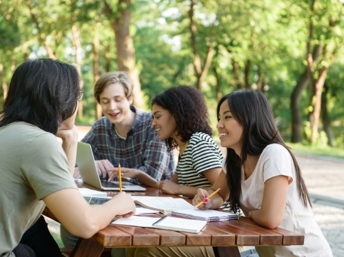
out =
[[176,166],[179,185],[212,186],[203,172],[212,168],[222,168],[222,159],[221,150],[210,135],[202,132],[192,134]]

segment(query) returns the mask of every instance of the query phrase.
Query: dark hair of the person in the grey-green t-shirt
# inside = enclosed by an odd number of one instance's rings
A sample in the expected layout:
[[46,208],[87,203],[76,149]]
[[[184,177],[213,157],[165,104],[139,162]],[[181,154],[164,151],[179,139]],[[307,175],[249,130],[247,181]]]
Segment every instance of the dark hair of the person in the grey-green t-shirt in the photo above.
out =
[[26,60],[14,71],[0,111],[0,126],[28,122],[56,135],[77,108],[77,69],[59,60]]

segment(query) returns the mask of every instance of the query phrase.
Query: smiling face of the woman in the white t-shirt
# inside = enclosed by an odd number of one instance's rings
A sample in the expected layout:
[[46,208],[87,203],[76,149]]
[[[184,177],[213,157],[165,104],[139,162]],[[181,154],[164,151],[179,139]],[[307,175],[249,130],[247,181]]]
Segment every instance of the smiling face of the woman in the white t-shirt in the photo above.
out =
[[216,128],[220,133],[221,146],[232,148],[240,156],[243,126],[236,122],[232,116],[227,100],[220,106],[219,122]]

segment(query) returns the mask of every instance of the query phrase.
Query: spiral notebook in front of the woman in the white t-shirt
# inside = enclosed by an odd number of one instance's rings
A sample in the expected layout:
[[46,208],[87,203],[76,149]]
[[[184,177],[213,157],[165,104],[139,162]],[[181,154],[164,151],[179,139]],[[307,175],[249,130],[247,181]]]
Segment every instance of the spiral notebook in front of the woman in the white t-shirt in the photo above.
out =
[[196,219],[200,221],[221,221],[228,219],[238,219],[238,214],[230,212],[219,212],[217,210],[175,210],[172,215],[181,216],[188,219]]

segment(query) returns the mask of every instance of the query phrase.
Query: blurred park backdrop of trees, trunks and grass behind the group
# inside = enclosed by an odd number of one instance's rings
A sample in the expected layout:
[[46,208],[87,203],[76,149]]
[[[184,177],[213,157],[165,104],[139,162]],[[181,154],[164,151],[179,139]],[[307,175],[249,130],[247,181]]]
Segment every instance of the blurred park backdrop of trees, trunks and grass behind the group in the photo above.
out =
[[23,60],[56,58],[83,79],[79,124],[101,117],[94,81],[123,70],[139,109],[197,87],[215,133],[221,96],[262,91],[294,150],[344,157],[343,14],[343,0],[0,0],[0,109]]

